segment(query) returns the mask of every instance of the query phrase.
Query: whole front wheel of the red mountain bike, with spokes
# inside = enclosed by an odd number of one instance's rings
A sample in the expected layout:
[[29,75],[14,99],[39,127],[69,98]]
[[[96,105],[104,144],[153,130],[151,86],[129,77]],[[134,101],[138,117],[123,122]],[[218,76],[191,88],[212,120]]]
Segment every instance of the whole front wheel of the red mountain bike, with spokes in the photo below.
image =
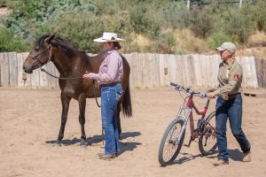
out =
[[[177,157],[179,151],[182,148],[184,142],[184,133],[181,137],[181,129],[184,126],[184,119],[178,117],[174,119],[165,130],[164,135],[160,141],[159,148],[159,163],[161,166],[171,164]],[[179,142],[177,140],[180,139]]]

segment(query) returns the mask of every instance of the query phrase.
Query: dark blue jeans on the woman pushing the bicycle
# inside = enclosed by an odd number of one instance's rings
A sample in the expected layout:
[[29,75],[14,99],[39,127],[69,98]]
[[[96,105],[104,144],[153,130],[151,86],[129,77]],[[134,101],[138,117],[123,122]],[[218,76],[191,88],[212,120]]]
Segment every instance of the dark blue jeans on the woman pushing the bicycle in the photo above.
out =
[[250,150],[250,143],[242,131],[242,97],[238,95],[230,100],[224,100],[221,96],[216,101],[216,128],[217,128],[217,145],[218,158],[228,162],[227,139],[226,139],[226,122],[229,118],[231,133],[239,142],[241,150],[246,153]]

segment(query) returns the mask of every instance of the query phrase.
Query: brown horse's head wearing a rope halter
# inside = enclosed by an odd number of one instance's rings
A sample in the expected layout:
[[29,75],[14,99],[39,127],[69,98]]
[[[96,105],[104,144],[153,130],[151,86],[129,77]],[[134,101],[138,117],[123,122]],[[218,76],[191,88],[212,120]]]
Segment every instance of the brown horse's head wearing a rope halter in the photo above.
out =
[[33,70],[47,64],[51,60],[51,40],[53,38],[54,35],[43,35],[43,37],[35,42],[34,48],[29,52],[23,63],[25,73],[32,73]]

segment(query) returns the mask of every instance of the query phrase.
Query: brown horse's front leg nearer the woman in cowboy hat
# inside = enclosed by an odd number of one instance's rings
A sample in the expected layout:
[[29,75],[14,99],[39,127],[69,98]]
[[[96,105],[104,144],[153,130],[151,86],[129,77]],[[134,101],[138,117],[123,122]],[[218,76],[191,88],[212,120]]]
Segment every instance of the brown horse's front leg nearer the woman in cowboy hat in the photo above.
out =
[[79,120],[81,124],[81,129],[82,129],[82,136],[81,136],[81,146],[86,146],[86,135],[85,135],[85,108],[86,108],[86,94],[82,93],[79,96],[78,99],[79,102],[79,107],[80,107],[80,115],[79,115]]

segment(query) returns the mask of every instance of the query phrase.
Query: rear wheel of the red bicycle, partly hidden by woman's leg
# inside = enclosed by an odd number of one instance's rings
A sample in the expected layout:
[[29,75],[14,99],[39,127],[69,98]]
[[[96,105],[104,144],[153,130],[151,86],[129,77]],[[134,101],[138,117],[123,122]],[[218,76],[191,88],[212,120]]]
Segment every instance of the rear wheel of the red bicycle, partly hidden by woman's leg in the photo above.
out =
[[217,140],[215,134],[215,112],[209,114],[206,119],[204,133],[199,139],[199,149],[203,156],[216,153]]

